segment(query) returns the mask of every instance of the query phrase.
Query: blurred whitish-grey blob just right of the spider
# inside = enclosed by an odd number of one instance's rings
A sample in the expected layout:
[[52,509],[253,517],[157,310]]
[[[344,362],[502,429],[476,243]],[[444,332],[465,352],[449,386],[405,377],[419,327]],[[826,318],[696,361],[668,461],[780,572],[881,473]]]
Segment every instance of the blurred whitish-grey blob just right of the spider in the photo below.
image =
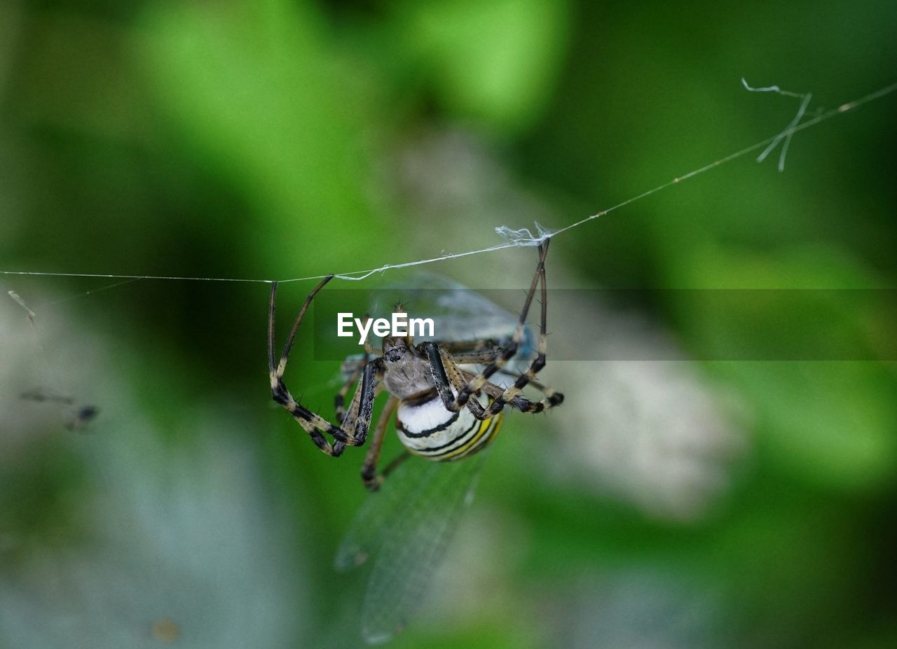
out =
[[644,320],[597,302],[553,316],[565,331],[584,334],[579,342],[554,336],[549,344],[577,345],[579,351],[558,353],[589,359],[553,367],[565,397],[551,418],[557,444],[544,454],[553,479],[659,518],[701,518],[746,451],[744,407]]

